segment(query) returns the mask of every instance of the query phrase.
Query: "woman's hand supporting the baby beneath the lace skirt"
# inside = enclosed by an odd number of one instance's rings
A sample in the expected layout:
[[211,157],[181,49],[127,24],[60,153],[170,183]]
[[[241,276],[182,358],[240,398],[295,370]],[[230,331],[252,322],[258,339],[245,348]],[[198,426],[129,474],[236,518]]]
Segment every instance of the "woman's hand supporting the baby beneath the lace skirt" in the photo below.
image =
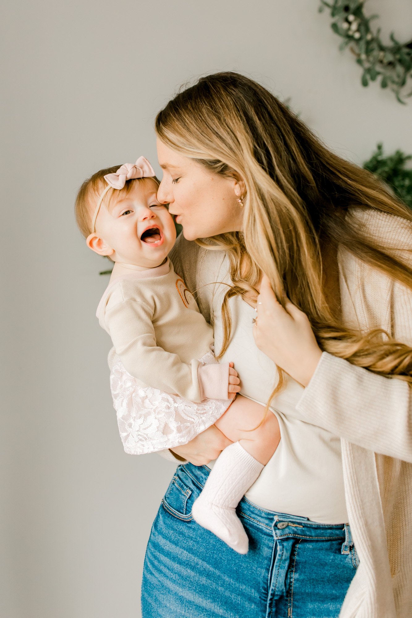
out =
[[215,425],[212,425],[187,444],[170,450],[182,459],[187,459],[191,464],[207,465],[213,459],[217,459],[223,449],[230,444],[232,444],[230,439],[226,438]]

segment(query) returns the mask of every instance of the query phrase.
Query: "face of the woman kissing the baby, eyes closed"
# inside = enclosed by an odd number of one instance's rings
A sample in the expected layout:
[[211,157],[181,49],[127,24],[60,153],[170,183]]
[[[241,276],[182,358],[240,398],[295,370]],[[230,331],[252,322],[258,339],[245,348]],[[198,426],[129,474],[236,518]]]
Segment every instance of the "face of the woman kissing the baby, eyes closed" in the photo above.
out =
[[157,199],[170,205],[169,212],[183,227],[187,240],[242,229],[241,188],[235,179],[208,171],[159,139],[157,155],[163,169]]

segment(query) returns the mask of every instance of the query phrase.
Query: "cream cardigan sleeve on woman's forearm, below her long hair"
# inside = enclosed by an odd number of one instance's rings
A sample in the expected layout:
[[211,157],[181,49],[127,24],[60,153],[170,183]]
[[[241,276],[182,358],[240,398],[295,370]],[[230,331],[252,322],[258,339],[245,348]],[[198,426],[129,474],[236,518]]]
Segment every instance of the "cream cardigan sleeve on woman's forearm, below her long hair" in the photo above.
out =
[[412,389],[406,382],[323,352],[296,408],[302,420],[348,442],[412,463]]

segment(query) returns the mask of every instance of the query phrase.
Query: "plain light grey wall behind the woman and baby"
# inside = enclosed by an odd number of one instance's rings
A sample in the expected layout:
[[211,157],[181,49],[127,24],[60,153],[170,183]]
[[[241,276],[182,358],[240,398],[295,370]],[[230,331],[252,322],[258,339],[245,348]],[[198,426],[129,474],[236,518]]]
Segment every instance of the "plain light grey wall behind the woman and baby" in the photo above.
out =
[[[8,2],[2,145],[5,395],[2,616],[138,618],[145,543],[173,465],[122,451],[109,339],[95,310],[105,262],[75,227],[82,180],[156,163],[153,119],[178,85],[234,69],[264,83],[342,156],[412,151],[412,102],[362,88],[317,0]],[[411,36],[409,0],[371,0]]]

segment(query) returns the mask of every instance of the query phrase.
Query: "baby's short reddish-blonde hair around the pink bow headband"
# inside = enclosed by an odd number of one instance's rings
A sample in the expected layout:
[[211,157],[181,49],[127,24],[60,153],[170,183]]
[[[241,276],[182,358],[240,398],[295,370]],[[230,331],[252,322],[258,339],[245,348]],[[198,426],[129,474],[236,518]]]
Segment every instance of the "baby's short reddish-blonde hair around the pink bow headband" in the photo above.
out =
[[[85,238],[92,233],[92,219],[97,205],[97,200],[101,193],[107,187],[105,180],[106,174],[115,174],[121,165],[114,165],[113,167],[106,167],[100,169],[95,174],[92,174],[90,178],[87,178],[77,192],[74,212],[80,232]],[[109,208],[113,195],[117,197],[124,197],[129,193],[137,182],[147,182],[147,180],[154,180],[157,186],[160,185],[160,181],[156,176],[150,176],[145,178],[134,178],[132,180],[126,180],[126,184],[122,189],[109,190],[105,198],[103,199],[103,205]]]

